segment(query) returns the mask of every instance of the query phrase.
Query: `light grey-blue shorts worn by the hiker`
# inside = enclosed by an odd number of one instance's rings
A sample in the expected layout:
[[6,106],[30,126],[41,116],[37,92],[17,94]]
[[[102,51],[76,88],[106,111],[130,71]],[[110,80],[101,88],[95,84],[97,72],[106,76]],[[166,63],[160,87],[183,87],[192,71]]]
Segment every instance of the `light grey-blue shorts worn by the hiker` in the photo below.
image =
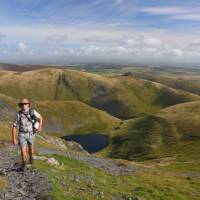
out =
[[33,132],[19,133],[18,140],[19,140],[19,146],[21,148],[26,147],[27,144],[33,145],[35,140],[35,135],[33,134]]

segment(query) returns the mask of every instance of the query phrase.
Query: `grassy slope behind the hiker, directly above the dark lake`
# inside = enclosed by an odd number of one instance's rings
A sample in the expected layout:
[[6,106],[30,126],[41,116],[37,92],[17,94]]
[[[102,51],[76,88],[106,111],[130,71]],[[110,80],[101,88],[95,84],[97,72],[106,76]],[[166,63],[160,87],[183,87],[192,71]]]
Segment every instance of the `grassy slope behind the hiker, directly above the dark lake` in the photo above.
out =
[[[0,94],[0,122],[12,125],[18,100]],[[43,131],[63,136],[67,134],[109,133],[119,125],[120,120],[105,111],[93,108],[77,100],[68,101],[35,101],[32,108],[44,118]],[[2,131],[7,132],[7,131]]]

